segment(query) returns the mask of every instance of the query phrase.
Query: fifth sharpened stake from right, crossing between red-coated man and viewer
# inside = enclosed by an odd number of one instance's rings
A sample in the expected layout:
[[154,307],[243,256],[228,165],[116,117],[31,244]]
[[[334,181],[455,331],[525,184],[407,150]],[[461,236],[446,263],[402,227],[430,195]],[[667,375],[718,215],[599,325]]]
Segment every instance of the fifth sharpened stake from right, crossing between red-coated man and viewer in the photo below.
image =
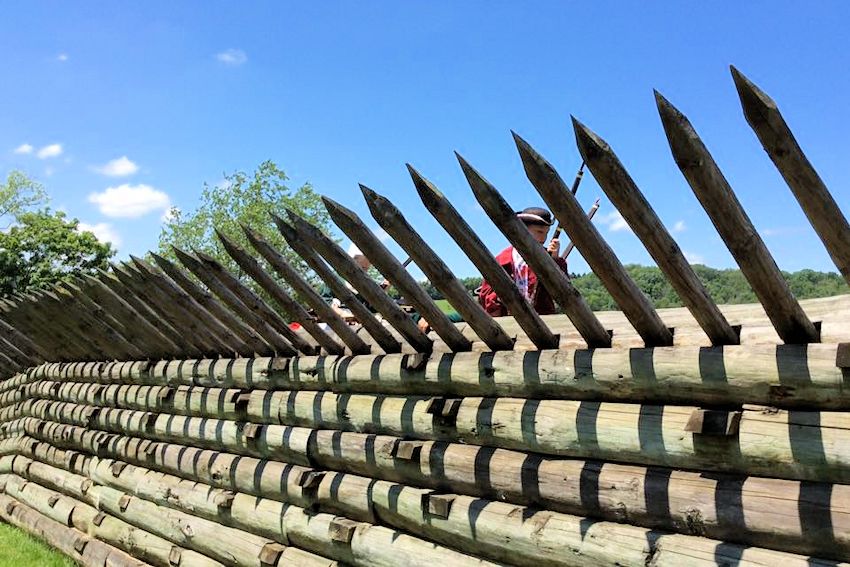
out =
[[540,246],[528,232],[507,201],[487,180],[471,166],[460,154],[455,154],[461,169],[475,194],[475,198],[484,208],[487,216],[505,235],[511,245],[519,251],[528,265],[537,274],[540,283],[546,287],[549,295],[561,306],[567,317],[575,325],[579,334],[591,348],[610,347],[611,336],[602,326],[587,302],[570,283],[555,260]]

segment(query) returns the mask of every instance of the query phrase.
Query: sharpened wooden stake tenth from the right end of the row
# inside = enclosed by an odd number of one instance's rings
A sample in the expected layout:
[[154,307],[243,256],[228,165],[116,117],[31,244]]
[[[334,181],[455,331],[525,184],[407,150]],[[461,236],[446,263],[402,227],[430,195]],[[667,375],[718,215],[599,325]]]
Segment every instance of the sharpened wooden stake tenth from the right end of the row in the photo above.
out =
[[342,302],[342,304],[351,311],[354,318],[363,325],[363,328],[366,329],[366,332],[369,333],[373,339],[375,339],[378,346],[380,346],[386,353],[399,352],[401,350],[401,344],[396,340],[393,334],[384,327],[380,321],[378,321],[372,312],[369,311],[363,302],[361,302],[354,294],[354,292],[348,289],[348,286],[346,286],[339,277],[337,277],[319,254],[301,239],[301,236],[298,234],[298,231],[295,230],[295,227],[290,226],[277,215],[272,214],[272,218],[277,225],[277,229],[280,231],[281,235],[283,235],[283,238],[289,246],[299,256],[301,256],[307,265],[316,272],[316,275],[325,282],[325,285],[330,288],[334,297],[339,299],[340,302]]

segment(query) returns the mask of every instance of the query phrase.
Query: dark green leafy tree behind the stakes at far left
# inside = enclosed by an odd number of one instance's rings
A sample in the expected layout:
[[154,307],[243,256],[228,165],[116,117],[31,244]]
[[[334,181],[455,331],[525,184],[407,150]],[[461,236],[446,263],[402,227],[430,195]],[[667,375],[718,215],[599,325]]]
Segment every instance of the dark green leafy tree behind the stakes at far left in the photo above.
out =
[[17,214],[15,224],[0,233],[0,295],[107,268],[115,254],[111,244],[78,231],[78,226],[77,219],[68,219],[61,211]]

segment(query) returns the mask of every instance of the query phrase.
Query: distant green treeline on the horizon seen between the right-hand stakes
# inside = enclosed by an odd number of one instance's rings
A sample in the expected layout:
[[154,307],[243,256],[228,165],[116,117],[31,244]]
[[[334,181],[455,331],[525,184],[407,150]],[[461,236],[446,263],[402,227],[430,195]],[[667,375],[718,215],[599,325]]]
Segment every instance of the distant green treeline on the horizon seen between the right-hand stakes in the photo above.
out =
[[[682,306],[679,296],[658,268],[628,265],[626,270],[656,307]],[[756,303],[758,301],[740,270],[717,270],[697,265],[694,266],[694,271],[717,303]],[[782,274],[798,299],[850,293],[850,287],[836,273],[800,270],[799,272],[782,272]],[[571,278],[573,285],[581,292],[591,309],[595,311],[617,309],[614,300],[595,274],[571,274]],[[463,278],[461,281],[470,293],[481,285],[480,277]],[[442,299],[442,295],[430,282],[423,282],[422,285],[432,298]]]

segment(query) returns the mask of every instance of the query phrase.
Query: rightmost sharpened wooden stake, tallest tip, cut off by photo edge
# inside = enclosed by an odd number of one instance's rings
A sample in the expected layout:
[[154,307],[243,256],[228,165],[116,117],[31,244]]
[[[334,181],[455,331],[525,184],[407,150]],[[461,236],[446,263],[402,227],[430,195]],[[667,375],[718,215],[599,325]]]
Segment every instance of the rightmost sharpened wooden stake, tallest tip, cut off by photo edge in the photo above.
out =
[[838,271],[850,284],[850,224],[803,153],[776,102],[734,66],[731,70],[747,123],[791,188]]

